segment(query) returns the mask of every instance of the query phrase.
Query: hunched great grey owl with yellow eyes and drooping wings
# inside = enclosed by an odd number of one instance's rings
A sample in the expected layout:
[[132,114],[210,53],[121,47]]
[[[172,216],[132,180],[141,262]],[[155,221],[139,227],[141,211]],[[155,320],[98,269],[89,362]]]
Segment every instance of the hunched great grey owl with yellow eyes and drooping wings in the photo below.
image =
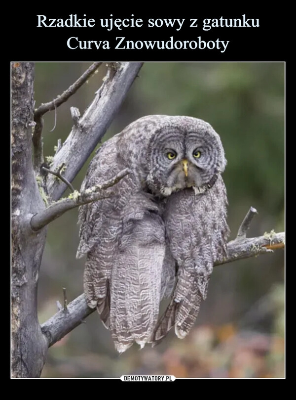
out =
[[91,161],[81,192],[130,169],[114,196],[79,209],[84,293],[118,352],[155,344],[173,326],[184,338],[192,327],[213,264],[226,253],[225,165],[210,124],[165,115],[133,122]]

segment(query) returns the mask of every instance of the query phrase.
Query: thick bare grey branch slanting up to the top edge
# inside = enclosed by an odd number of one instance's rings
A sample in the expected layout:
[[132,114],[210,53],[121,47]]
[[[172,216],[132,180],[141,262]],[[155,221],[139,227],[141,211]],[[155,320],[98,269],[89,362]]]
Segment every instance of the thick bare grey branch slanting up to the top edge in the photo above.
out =
[[[64,178],[72,182],[109,128],[142,64],[122,62],[117,63],[116,68],[113,64],[109,66],[107,76],[93,102],[79,121],[75,121],[67,140],[53,157],[52,170],[65,163],[67,169]],[[48,177],[47,189],[53,200],[58,200],[66,188],[64,182]]]

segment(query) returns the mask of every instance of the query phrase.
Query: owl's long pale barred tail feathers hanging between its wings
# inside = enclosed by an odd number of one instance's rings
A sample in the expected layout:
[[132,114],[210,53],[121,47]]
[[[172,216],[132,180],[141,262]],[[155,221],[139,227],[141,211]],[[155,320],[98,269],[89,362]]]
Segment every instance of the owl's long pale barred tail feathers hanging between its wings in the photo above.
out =
[[[160,302],[164,245],[130,243],[112,269],[110,331],[116,350],[151,340]],[[102,316],[101,316],[102,317]]]

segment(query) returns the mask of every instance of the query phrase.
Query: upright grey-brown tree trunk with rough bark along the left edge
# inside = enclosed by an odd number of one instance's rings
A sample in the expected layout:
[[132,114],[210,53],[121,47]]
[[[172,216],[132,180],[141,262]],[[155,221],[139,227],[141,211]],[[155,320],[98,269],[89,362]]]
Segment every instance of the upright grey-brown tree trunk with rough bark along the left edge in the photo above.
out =
[[37,318],[38,272],[46,229],[33,232],[30,220],[45,205],[32,163],[34,64],[11,64],[11,234],[12,377],[40,376],[47,341]]

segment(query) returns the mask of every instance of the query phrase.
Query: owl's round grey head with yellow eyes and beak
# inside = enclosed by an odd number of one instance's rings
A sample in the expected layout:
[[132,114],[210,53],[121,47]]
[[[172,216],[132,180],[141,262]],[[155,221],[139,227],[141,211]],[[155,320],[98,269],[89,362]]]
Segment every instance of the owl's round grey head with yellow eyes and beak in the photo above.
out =
[[169,196],[186,187],[202,193],[213,186],[226,160],[220,136],[211,125],[185,116],[151,117],[157,123],[146,149],[149,189]]

